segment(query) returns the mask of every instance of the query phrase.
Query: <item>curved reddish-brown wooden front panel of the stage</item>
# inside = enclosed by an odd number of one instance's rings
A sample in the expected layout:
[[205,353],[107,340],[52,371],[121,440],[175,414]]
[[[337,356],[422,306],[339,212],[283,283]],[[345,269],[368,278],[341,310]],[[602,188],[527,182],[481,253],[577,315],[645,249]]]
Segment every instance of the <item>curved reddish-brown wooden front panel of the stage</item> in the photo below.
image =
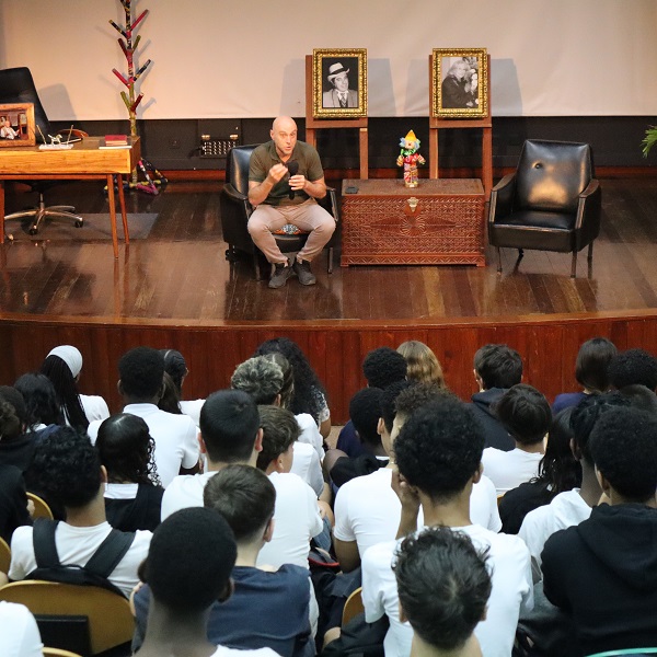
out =
[[100,324],[79,321],[47,322],[0,320],[0,384],[11,384],[23,372],[38,369],[45,355],[58,344],[74,344],[82,351],[84,367],[80,388],[102,394],[112,411],[120,410],[116,392],[117,362],[122,354],[138,345],[175,348],[189,367],[185,397],[205,397],[228,387],[237,365],[251,357],[265,339],[286,335],[308,355],[324,381],[335,424],[348,418],[350,396],[365,385],[361,362],[370,349],[396,348],[406,339],[419,339],[436,353],[448,385],[462,399],[475,392],[472,358],[486,343],[506,343],[520,351],[525,380],[539,388],[551,401],[555,394],[576,390],[575,358],[579,345],[590,337],[604,336],[619,349],[657,346],[657,316],[554,316],[519,318],[517,321],[445,325],[376,325],[355,322],[333,326],[234,325],[174,326],[143,324]]

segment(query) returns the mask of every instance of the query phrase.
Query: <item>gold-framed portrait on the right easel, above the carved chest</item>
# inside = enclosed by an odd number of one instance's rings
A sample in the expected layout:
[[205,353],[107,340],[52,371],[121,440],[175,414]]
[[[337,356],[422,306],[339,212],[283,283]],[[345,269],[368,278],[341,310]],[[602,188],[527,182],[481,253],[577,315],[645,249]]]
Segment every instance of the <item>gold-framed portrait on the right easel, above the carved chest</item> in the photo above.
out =
[[486,48],[434,48],[431,116],[488,116]]

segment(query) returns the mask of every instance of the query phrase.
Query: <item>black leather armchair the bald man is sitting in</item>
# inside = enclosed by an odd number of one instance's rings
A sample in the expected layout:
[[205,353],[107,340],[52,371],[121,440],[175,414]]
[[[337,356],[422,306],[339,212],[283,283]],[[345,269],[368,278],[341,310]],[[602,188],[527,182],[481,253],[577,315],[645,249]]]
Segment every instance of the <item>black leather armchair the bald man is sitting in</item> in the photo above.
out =
[[[227,260],[235,258],[239,251],[251,254],[253,256],[255,278],[260,280],[258,261],[264,258],[264,256],[255,246],[246,230],[249,217],[253,212],[253,208],[249,203],[249,160],[256,146],[237,146],[229,151],[226,160],[226,184],[220,196],[220,210],[223,240],[228,243]],[[338,220],[335,189],[327,187],[326,196],[318,203],[331,212],[336,221]],[[280,231],[274,233],[274,237],[280,251],[283,253],[290,253],[292,251],[300,251],[303,247],[308,239],[308,233],[288,223]],[[336,234],[334,232],[331,240],[324,246],[324,249],[328,250],[328,274],[333,273],[333,247],[335,239]]]

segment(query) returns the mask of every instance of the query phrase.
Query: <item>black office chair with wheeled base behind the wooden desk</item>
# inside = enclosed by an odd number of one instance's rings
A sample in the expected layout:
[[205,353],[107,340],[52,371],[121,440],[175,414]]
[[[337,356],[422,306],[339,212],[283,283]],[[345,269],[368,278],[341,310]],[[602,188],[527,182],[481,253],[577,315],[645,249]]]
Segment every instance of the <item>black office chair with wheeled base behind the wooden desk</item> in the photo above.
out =
[[[32,103],[34,105],[34,122],[36,126],[41,128],[41,131],[46,137],[48,135],[55,135],[38,97],[32,72],[27,67],[0,70],[0,104],[5,103]],[[87,132],[76,129],[72,130],[71,135],[78,138],[87,137]],[[38,129],[36,129],[36,140],[37,142],[42,141]],[[58,185],[58,182],[32,181],[28,182],[28,184],[34,192],[38,193],[38,207],[7,215],[4,217],[5,221],[8,219],[33,217],[32,224],[30,226],[31,235],[38,233],[39,226],[46,217],[72,220],[76,228],[80,228],[84,223],[84,219],[76,215],[76,208],[73,206],[46,206],[44,194],[50,187]]]

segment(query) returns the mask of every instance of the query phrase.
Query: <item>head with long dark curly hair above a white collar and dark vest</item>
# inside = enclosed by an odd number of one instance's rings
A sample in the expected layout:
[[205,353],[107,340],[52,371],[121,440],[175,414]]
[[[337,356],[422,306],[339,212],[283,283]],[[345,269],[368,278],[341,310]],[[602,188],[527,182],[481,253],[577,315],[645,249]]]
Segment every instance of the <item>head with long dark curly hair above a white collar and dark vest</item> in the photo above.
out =
[[118,413],[103,420],[95,442],[110,483],[160,484],[155,441],[143,418]]

